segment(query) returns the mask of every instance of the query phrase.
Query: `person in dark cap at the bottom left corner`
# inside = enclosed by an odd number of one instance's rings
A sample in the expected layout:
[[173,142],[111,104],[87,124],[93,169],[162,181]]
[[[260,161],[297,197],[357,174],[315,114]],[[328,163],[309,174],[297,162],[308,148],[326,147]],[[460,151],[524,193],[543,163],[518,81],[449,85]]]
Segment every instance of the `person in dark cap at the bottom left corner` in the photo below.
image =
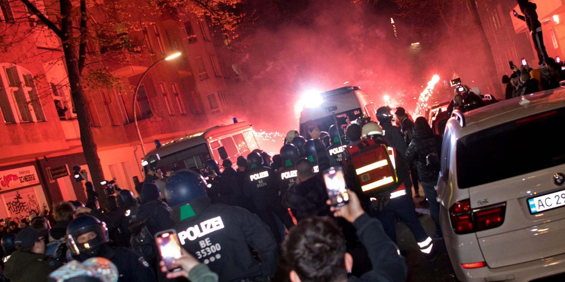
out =
[[16,235],[16,250],[6,261],[4,275],[11,282],[47,281],[50,272],[59,265],[45,255],[45,243],[49,230],[36,230],[32,227],[21,230]]

